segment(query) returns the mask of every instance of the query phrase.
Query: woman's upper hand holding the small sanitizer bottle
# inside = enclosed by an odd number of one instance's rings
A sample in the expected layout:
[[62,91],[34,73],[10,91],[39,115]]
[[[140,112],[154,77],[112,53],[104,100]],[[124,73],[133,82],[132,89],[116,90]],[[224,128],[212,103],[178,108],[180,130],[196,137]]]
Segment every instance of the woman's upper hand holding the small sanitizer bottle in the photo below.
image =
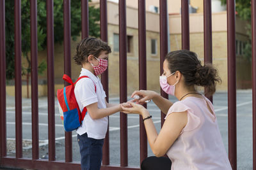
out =
[[140,91],[134,91],[132,93],[131,97],[134,97],[136,95],[140,96],[139,99],[134,99],[134,101],[137,104],[144,104],[146,103],[146,101],[150,101],[151,99],[153,99],[154,96],[156,96],[156,92],[154,91],[150,91],[150,90],[140,90]]

